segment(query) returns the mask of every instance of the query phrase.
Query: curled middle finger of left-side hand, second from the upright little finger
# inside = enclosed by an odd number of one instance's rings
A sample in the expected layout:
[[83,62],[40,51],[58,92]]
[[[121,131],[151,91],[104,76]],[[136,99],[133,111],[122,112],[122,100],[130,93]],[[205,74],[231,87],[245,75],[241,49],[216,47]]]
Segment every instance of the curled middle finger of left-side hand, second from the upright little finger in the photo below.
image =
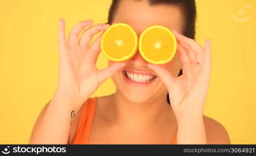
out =
[[85,30],[80,39],[80,46],[88,47],[93,40],[93,36],[100,31],[105,31],[109,28],[109,24],[96,24],[93,27]]

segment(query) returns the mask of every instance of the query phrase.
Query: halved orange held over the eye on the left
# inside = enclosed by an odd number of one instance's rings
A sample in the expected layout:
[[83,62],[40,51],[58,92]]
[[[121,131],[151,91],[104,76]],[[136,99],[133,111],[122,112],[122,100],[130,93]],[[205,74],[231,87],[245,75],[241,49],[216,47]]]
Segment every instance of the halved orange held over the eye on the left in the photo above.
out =
[[111,61],[120,62],[132,58],[138,47],[138,36],[125,23],[112,24],[101,39],[101,52]]

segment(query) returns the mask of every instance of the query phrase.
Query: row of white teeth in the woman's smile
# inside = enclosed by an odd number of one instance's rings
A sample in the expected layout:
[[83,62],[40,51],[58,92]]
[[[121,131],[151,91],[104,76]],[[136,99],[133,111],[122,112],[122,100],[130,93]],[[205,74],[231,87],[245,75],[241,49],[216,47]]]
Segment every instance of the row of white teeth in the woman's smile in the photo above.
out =
[[154,75],[145,75],[145,74],[135,74],[125,71],[127,78],[134,82],[147,83],[150,82],[155,76]]

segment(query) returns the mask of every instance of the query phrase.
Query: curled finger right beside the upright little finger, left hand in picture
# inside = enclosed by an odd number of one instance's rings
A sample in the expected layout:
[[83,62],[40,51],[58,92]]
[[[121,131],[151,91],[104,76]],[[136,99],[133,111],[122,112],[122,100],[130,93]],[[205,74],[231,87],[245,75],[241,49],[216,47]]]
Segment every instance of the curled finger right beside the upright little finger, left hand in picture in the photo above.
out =
[[89,27],[93,24],[92,20],[82,21],[74,26],[74,28],[69,33],[68,44],[70,47],[79,45],[79,34],[86,27]]

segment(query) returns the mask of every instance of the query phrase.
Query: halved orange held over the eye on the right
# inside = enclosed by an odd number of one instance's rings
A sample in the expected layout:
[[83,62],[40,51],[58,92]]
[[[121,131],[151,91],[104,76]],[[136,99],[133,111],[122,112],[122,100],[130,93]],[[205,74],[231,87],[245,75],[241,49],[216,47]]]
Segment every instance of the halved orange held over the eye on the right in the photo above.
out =
[[174,57],[177,41],[172,31],[161,25],[153,25],[139,37],[139,53],[149,63],[164,64]]

